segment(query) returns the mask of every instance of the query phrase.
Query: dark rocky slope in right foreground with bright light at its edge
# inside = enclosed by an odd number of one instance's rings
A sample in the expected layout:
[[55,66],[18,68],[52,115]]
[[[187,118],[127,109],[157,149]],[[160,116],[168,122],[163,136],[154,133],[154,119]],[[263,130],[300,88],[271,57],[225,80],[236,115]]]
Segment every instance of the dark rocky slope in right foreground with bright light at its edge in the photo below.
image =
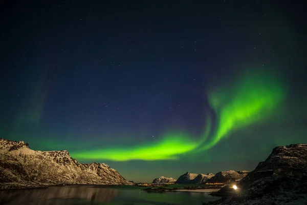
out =
[[223,199],[204,204],[307,204],[307,145],[276,147],[255,170],[217,195]]

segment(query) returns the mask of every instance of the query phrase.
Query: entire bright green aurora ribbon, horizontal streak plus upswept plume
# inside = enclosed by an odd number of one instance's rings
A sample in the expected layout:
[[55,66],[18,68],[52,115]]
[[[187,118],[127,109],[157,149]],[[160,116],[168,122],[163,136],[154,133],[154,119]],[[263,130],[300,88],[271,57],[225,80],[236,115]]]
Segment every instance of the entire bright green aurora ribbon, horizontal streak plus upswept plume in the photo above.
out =
[[207,117],[204,134],[193,140],[186,133],[166,133],[159,141],[134,147],[117,147],[73,152],[77,159],[176,160],[181,155],[202,152],[215,146],[230,133],[269,118],[286,96],[285,89],[273,74],[255,70],[243,73],[236,83],[208,92],[215,112],[215,127]]

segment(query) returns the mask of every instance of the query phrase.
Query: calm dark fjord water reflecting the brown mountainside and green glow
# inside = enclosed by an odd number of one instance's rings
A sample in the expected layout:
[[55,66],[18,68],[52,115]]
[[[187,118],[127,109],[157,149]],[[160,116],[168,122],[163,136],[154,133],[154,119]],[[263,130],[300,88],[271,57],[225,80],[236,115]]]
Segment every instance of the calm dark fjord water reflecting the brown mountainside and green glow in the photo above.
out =
[[133,186],[67,186],[48,189],[27,189],[0,191],[0,204],[23,205],[164,205],[199,204],[217,200],[208,193],[166,192],[147,193],[141,187]]

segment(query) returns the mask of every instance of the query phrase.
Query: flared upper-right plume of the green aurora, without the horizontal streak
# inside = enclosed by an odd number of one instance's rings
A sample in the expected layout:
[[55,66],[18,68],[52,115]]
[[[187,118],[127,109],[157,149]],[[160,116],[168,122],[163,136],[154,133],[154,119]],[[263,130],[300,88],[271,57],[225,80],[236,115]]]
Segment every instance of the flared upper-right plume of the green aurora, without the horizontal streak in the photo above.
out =
[[208,92],[217,126],[202,149],[213,147],[237,129],[268,118],[284,96],[283,86],[276,76],[262,70],[245,72],[237,83]]

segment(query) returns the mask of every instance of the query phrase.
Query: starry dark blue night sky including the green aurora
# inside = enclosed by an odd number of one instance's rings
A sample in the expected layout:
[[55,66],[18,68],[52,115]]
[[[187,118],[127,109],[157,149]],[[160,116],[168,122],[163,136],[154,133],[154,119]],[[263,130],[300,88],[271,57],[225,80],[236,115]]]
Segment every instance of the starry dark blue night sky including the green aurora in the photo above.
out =
[[252,170],[275,146],[307,143],[303,8],[7,1],[0,137],[137,182]]

